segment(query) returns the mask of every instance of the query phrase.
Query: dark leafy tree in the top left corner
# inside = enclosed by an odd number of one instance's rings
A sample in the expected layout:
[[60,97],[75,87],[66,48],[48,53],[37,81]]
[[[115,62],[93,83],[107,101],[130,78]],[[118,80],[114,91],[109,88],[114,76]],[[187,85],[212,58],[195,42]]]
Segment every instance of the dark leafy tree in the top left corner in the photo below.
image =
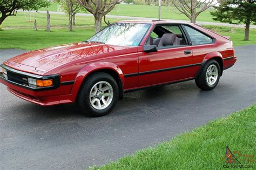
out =
[[0,0],[0,25],[9,16],[16,16],[17,10],[38,10],[48,7],[50,3],[46,0]]

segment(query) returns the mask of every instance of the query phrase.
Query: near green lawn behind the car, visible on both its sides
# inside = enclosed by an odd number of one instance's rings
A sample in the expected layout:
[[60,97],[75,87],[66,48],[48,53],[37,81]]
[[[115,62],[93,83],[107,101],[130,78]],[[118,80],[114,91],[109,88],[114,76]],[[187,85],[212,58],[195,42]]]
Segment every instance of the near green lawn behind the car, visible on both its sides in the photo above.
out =
[[[91,21],[90,21],[91,22]],[[231,36],[234,46],[256,44],[256,29],[251,30],[249,41],[244,38],[244,29],[230,28],[225,26],[205,25],[221,35]],[[31,29],[7,29],[0,31],[0,49],[25,49],[36,50],[43,47],[62,45],[74,42],[81,42],[94,34],[93,26],[87,25],[85,28],[74,28],[69,32],[68,28],[55,28],[51,32],[44,31],[45,28],[34,31]]]

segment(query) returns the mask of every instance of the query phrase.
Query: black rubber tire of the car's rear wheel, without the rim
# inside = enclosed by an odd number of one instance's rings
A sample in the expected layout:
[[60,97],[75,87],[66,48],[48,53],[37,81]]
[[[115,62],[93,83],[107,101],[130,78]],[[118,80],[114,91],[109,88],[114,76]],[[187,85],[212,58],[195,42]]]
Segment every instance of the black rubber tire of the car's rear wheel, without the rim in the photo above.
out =
[[[212,65],[215,65],[217,67],[217,70],[218,70],[218,73],[217,73],[217,80],[215,80],[215,83],[214,84],[209,84],[206,80],[207,78],[207,69],[212,66]],[[203,70],[200,72],[199,76],[195,79],[196,81],[196,84],[197,86],[202,89],[202,90],[212,90],[214,89],[217,84],[219,83],[219,79],[220,79],[220,66],[219,66],[219,63],[212,59],[212,60],[209,60]]]

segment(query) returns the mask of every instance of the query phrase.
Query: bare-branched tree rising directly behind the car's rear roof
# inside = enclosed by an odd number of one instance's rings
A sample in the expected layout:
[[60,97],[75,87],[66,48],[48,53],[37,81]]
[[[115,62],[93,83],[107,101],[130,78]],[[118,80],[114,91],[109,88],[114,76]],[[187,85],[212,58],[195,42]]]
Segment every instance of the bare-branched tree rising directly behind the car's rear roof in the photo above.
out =
[[217,2],[214,0],[171,0],[171,4],[175,6],[180,14],[183,13],[187,18],[189,18],[191,23],[196,23],[196,19],[199,14],[211,6],[214,6]]

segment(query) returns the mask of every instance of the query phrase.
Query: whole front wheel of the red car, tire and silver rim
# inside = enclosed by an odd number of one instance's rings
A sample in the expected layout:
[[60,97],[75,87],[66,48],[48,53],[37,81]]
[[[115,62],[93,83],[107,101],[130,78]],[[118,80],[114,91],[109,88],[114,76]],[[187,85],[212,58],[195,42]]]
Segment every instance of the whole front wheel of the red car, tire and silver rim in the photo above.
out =
[[118,100],[116,80],[107,73],[97,72],[86,78],[78,94],[80,111],[90,117],[110,113]]

